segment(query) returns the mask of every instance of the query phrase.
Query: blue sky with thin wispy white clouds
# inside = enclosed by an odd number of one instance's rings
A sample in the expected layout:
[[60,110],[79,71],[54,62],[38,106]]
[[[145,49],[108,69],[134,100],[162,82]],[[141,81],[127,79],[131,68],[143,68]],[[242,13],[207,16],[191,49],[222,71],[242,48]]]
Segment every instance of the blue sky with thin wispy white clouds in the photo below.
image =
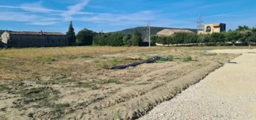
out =
[[152,26],[196,28],[205,23],[256,26],[256,0],[1,0],[0,30],[67,32],[70,20],[77,33],[119,31]]

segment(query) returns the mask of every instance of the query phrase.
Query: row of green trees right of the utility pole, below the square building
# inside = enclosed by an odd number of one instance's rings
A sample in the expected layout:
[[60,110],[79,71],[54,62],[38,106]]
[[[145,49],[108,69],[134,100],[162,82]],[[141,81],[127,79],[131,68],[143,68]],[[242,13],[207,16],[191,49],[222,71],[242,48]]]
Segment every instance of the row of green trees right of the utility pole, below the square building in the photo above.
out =
[[232,43],[237,41],[242,44],[256,43],[256,27],[238,26],[236,30],[212,34],[176,33],[172,36],[151,36],[151,40],[158,44],[219,44]]

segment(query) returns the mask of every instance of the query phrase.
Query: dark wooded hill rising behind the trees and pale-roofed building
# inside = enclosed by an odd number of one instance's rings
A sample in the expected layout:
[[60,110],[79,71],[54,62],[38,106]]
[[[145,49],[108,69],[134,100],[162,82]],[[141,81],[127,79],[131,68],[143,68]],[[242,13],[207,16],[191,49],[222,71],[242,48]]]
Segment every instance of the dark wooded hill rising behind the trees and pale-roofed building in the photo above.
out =
[[[134,29],[137,29],[138,32],[140,32],[142,34],[142,38],[145,38],[146,37],[146,32],[147,32],[147,27],[135,27],[135,28],[129,28],[129,29],[125,29],[125,30],[122,30],[122,31],[117,31],[117,32],[121,32],[123,34],[128,34],[128,35],[132,35],[133,32],[134,32]],[[151,31],[150,31],[150,34],[151,35],[156,35],[157,32],[160,32],[162,31],[163,29],[180,29],[180,28],[168,28],[168,27],[150,27]],[[192,31],[192,32],[197,32],[197,29],[188,29],[188,28],[185,28],[185,29],[182,29],[182,30],[189,30],[189,31]]]

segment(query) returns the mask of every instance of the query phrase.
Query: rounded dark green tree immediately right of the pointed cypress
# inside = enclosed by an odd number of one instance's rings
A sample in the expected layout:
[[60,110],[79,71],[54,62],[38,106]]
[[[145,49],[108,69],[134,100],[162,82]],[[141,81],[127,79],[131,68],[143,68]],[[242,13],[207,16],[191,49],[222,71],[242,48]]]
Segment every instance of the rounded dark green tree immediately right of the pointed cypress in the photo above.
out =
[[84,28],[77,33],[76,43],[79,43],[81,45],[92,45],[94,35],[96,35],[96,32]]

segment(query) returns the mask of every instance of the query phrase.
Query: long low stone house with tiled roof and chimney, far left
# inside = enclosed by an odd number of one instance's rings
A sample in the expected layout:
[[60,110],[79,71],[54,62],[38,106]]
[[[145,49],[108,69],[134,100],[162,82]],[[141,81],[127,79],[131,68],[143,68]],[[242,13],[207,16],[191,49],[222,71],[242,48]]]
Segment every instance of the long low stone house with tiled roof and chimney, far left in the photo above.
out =
[[65,35],[60,32],[5,31],[1,38],[5,47],[55,47],[68,45]]

